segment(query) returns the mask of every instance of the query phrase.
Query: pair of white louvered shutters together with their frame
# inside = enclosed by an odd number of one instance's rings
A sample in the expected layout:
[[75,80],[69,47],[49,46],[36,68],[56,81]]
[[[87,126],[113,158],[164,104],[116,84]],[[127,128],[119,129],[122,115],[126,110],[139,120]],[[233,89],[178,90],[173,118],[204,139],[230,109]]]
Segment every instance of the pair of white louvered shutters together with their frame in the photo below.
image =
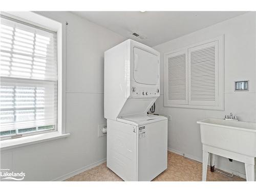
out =
[[223,36],[164,54],[164,106],[224,110]]

